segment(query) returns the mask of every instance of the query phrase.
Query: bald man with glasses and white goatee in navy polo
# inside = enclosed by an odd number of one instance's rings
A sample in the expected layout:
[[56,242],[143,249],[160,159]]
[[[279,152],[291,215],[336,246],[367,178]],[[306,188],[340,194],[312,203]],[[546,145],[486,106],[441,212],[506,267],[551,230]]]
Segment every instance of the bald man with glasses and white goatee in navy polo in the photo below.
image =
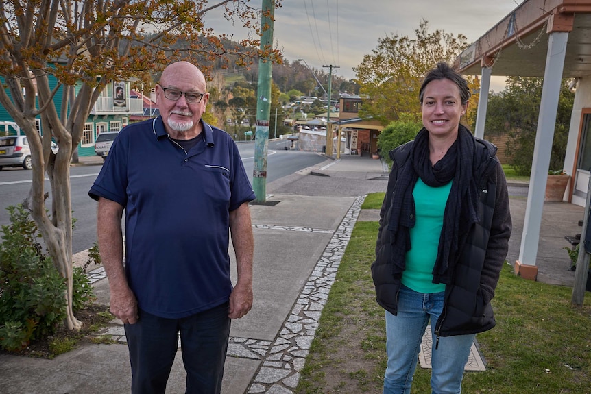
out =
[[232,138],[201,119],[208,99],[197,67],[167,66],[156,85],[160,116],[121,130],[88,193],[99,201],[99,249],[110,310],[125,326],[132,393],[165,393],[179,332],[186,393],[219,393],[230,319],[252,306],[255,196]]

